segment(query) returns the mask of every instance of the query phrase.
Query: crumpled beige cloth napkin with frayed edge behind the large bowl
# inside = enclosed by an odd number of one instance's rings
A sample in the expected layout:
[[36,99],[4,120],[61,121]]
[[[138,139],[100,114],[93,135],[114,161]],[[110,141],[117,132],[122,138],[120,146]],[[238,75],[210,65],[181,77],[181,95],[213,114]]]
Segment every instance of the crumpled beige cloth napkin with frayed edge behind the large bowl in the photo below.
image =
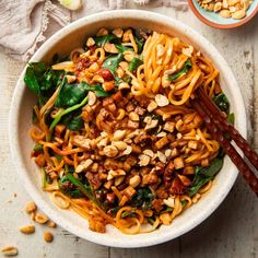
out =
[[[78,11],[69,11],[57,1],[0,1],[0,50],[23,61],[36,51],[46,37],[68,23],[87,14],[110,9],[125,9],[129,0],[84,0]],[[150,0],[151,7],[166,5],[187,9],[187,0]],[[55,26],[54,22],[59,24]],[[50,33],[46,34],[46,31]]]

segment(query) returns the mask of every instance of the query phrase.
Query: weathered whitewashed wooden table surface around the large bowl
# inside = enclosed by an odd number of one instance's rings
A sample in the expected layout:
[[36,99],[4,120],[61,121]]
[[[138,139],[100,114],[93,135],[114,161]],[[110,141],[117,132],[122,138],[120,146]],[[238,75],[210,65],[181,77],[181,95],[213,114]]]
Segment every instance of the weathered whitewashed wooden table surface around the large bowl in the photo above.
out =
[[[145,8],[146,10],[146,8]],[[249,136],[258,150],[258,15],[249,24],[231,31],[208,27],[190,11],[175,12],[168,8],[149,8],[184,21],[206,36],[231,66],[245,97],[250,118]],[[0,54],[0,247],[14,245],[19,257],[175,257],[175,258],[257,258],[258,202],[238,177],[220,208],[201,225],[168,243],[134,249],[109,248],[81,239],[61,227],[52,230],[55,239],[43,239],[45,226],[37,226],[33,235],[22,235],[19,227],[30,223],[23,212],[30,200],[10,159],[8,119],[15,82],[24,63]]]

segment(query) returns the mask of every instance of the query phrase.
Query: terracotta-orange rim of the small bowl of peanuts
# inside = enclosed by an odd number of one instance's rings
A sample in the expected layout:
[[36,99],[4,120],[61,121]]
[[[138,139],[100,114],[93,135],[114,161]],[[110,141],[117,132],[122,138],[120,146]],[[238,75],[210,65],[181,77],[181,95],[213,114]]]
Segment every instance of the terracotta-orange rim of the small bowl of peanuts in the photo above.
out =
[[215,22],[211,22],[210,20],[208,20],[207,17],[204,17],[195,7],[194,4],[194,0],[188,0],[188,4],[191,9],[191,11],[195,13],[195,15],[202,21],[203,23],[206,23],[209,26],[212,27],[216,27],[216,28],[222,28],[222,30],[227,30],[227,28],[234,28],[234,27],[239,27],[244,24],[246,24],[247,22],[249,22],[253,17],[255,17],[255,15],[258,12],[258,4],[255,8],[255,10],[246,17],[242,19],[239,22],[233,23],[233,24],[220,24],[220,23],[215,23]]

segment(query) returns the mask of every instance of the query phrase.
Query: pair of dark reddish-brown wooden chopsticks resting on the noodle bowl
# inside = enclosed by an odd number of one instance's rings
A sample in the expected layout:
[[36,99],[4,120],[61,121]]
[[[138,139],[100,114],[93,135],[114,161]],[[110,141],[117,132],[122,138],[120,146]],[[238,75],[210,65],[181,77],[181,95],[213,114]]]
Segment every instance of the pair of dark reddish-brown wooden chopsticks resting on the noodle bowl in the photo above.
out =
[[[244,155],[258,171],[257,153],[251,150],[249,143],[241,136],[234,126],[227,122],[225,114],[219,109],[201,87],[199,87],[196,93],[197,98],[192,101],[195,109],[203,119],[211,136],[224,149],[225,153],[244,176],[246,183],[258,197],[258,178],[251,171],[251,167],[232,145],[231,141],[233,140],[236,143],[236,145],[243,151]],[[231,140],[225,137],[225,133],[230,136]]]

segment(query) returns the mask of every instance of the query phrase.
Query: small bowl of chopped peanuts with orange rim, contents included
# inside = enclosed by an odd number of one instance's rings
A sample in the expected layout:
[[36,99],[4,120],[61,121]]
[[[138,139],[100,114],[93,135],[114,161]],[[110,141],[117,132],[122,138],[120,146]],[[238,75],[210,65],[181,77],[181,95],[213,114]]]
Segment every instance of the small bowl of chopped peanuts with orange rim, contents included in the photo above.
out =
[[238,27],[258,12],[258,0],[188,0],[188,3],[199,20],[216,28]]

